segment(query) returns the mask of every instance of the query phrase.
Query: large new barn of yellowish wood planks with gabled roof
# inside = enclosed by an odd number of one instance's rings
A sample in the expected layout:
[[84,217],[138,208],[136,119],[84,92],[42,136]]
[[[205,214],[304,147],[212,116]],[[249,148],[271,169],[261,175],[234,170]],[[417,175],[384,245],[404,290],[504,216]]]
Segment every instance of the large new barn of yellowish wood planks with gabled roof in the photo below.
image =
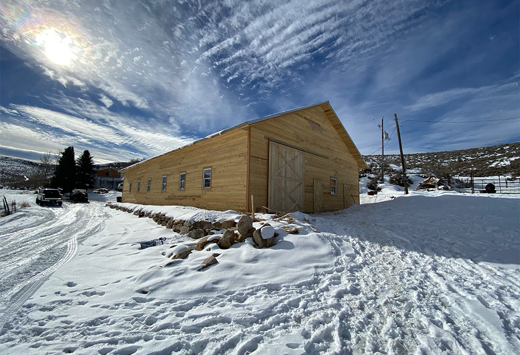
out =
[[366,167],[327,101],[244,122],[127,167],[122,201],[337,211],[359,204],[358,174]]

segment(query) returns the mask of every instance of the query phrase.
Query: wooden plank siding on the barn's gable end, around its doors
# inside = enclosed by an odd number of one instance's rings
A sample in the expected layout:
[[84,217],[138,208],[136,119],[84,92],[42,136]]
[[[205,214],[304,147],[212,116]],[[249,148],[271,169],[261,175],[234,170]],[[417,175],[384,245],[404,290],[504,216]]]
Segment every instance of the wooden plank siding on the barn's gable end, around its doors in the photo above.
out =
[[[269,141],[273,139],[327,156],[304,153],[304,211],[313,212],[313,179],[323,180],[324,211],[343,209],[343,184],[359,204],[358,163],[341,140],[321,106],[293,112],[251,126],[251,160],[248,195],[254,196],[255,211],[268,203]],[[330,177],[337,179],[337,195],[330,194]]]

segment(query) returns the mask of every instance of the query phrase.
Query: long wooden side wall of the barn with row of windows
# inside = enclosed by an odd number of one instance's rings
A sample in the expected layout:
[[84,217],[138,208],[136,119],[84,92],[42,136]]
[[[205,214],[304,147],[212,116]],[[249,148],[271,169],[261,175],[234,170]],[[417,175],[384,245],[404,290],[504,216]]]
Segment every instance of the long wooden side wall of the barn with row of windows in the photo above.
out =
[[[125,170],[123,202],[245,211],[247,158],[248,130],[235,129],[215,135]],[[212,168],[210,189],[202,188],[203,168]],[[184,171],[186,187],[179,190],[179,173]],[[165,191],[161,191],[163,175],[167,175]],[[146,192],[148,179],[152,179],[149,193]]]

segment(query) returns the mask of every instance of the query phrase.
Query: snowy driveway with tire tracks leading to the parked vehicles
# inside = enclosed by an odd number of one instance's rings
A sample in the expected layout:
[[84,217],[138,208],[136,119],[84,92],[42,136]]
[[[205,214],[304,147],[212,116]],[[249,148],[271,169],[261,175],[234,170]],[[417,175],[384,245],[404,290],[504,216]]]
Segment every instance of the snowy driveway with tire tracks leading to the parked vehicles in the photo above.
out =
[[105,226],[102,206],[35,205],[0,220],[0,324],[74,256],[79,242]]

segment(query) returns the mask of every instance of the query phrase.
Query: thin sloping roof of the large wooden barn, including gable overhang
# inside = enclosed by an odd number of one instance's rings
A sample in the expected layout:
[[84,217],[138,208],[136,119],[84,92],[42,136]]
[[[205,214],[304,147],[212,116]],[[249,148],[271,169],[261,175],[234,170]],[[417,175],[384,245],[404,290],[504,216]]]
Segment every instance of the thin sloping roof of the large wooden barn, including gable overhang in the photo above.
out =
[[[358,148],[356,147],[356,145],[352,141],[352,138],[350,138],[350,135],[348,135],[347,131],[345,130],[345,127],[343,127],[343,124],[341,123],[339,117],[337,117],[337,115],[334,112],[334,109],[330,105],[329,101],[324,101],[324,102],[320,102],[320,103],[316,103],[316,104],[312,104],[312,105],[297,107],[297,108],[293,108],[292,110],[282,111],[282,112],[278,112],[278,113],[275,113],[275,114],[272,114],[272,115],[268,115],[268,116],[265,116],[265,117],[260,117],[260,118],[256,118],[256,119],[253,119],[253,120],[250,120],[250,121],[246,121],[243,124],[240,124],[240,125],[237,125],[237,126],[234,126],[234,127],[231,127],[231,128],[228,128],[228,129],[225,129],[225,130],[213,133],[213,134],[210,134],[210,135],[206,136],[205,138],[202,138],[202,139],[200,139],[198,141],[192,142],[192,143],[190,143],[188,145],[192,145],[192,144],[199,143],[199,142],[207,140],[207,139],[211,139],[215,135],[222,134],[222,133],[225,133],[225,132],[229,132],[229,131],[237,129],[237,128],[243,128],[243,127],[246,127],[246,126],[251,126],[251,125],[257,124],[259,122],[263,122],[265,120],[271,119],[271,118],[280,117],[282,115],[285,115],[285,114],[288,114],[288,113],[292,113],[292,112],[296,112],[296,111],[306,110],[307,108],[315,107],[315,106],[325,106],[323,108],[323,111],[327,115],[327,118],[329,118],[329,120],[331,121],[332,126],[336,129],[337,133],[340,135],[343,143],[345,143],[345,145],[347,146],[347,148],[350,151],[350,153],[352,153],[352,155],[354,156],[354,159],[356,159],[359,168],[360,169],[367,168],[367,163],[365,162],[365,160],[361,156],[361,153],[359,153]],[[124,171],[126,169],[135,167],[135,166],[137,166],[137,165],[139,165],[141,163],[144,163],[145,161],[148,161],[148,160],[151,160],[151,159],[163,156],[163,155],[168,154],[170,152],[177,151],[178,149],[182,149],[185,146],[186,145],[184,145],[182,147],[179,147],[177,149],[173,149],[172,151],[161,153],[159,155],[156,155],[154,157],[148,158],[146,160],[139,161],[139,162],[135,163],[134,165],[131,165],[129,167],[121,169],[120,171]]]

